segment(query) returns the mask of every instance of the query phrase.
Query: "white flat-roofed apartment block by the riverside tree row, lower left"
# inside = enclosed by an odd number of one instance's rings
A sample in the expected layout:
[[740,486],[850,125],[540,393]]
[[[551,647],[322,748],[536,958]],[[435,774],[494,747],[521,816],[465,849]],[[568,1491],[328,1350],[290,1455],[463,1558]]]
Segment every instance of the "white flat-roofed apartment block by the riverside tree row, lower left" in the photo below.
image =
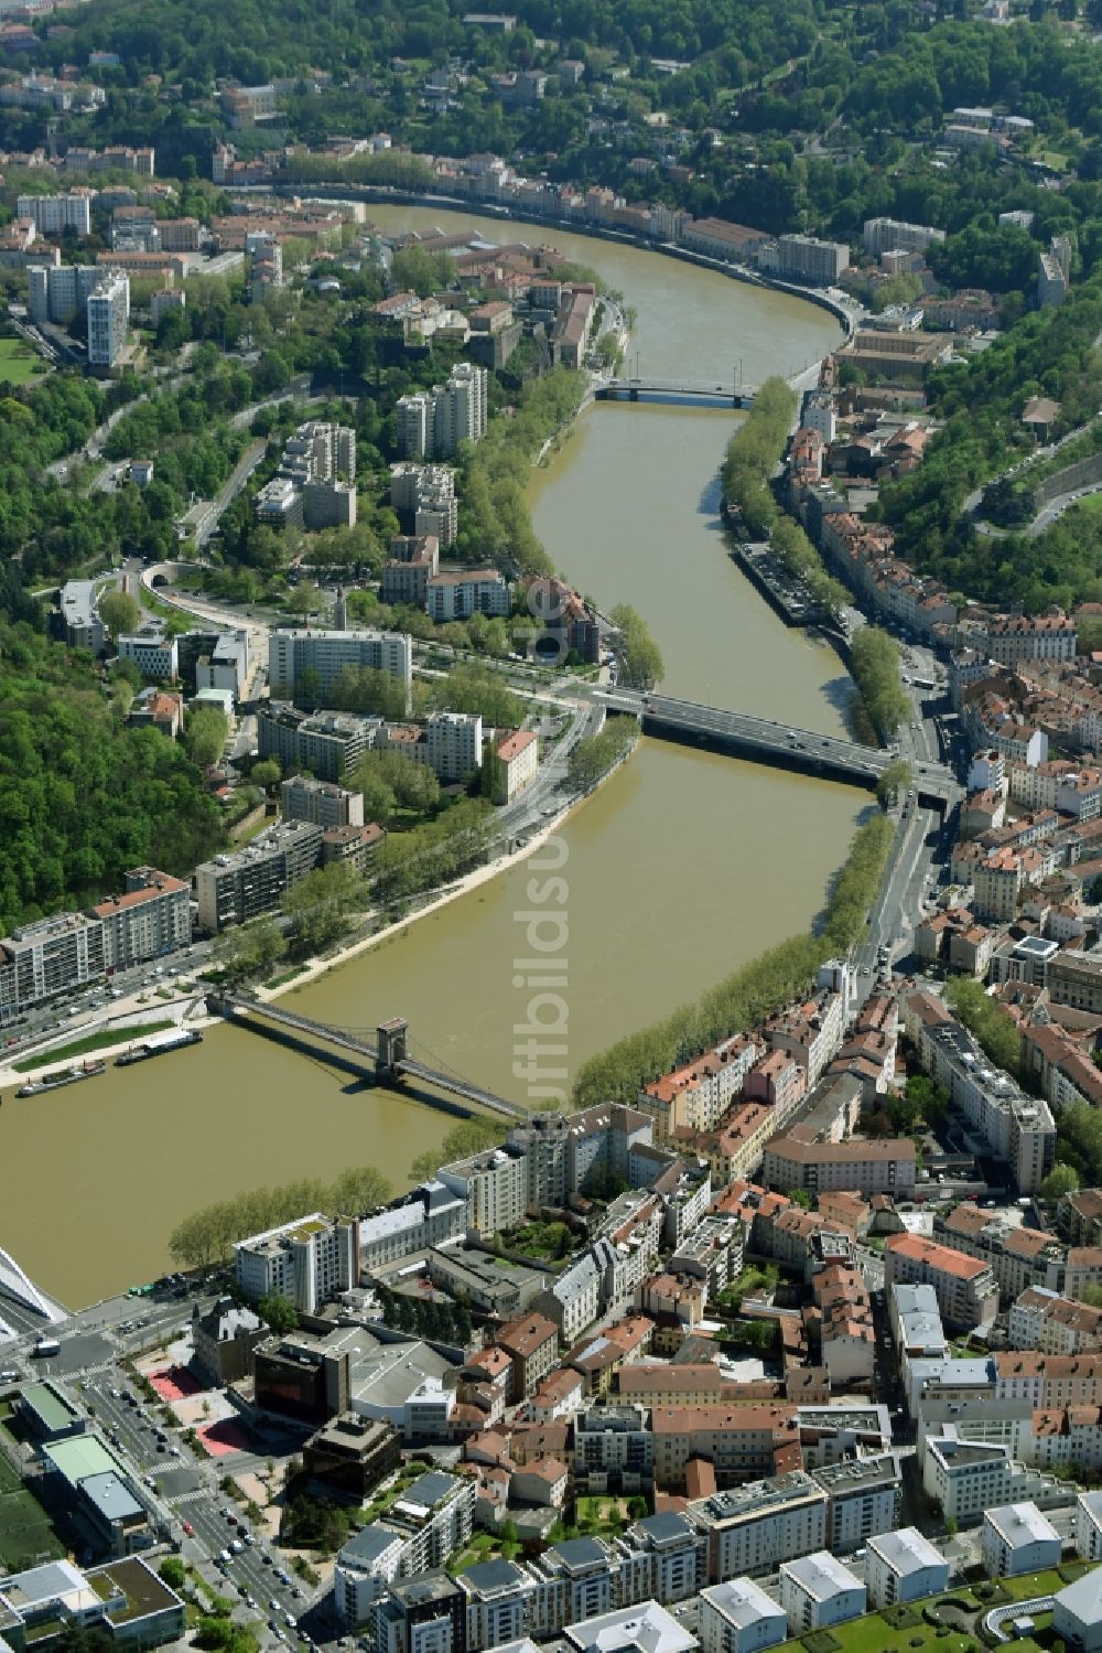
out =
[[360,1281],[360,1225],[321,1212],[240,1240],[233,1248],[240,1289],[254,1301],[278,1293],[301,1314],[316,1314]]

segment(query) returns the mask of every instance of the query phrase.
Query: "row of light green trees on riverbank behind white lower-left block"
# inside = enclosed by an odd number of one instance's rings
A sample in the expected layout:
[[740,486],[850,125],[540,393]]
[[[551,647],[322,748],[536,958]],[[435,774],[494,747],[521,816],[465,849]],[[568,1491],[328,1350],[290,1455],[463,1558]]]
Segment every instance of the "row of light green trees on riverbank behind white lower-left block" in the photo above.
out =
[[185,1217],[169,1235],[169,1250],[187,1268],[225,1261],[238,1240],[278,1228],[309,1212],[357,1217],[390,1198],[390,1184],[375,1165],[354,1165],[334,1182],[302,1177],[278,1189],[251,1189]]

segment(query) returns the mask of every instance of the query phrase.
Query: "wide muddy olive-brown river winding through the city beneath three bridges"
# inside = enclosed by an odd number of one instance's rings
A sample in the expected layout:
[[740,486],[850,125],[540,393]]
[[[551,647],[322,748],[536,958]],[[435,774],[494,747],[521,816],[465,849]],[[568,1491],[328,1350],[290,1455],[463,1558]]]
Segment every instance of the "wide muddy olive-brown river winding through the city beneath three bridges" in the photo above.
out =
[[[372,208],[385,226],[469,223]],[[487,238],[552,241],[636,307],[631,350],[658,377],[747,383],[791,372],[839,337],[813,306],[615,243],[497,218]],[[534,474],[535,526],[598,603],[631,602],[666,656],[664,686],[714,704],[838,732],[846,679],[834,653],[788,631],[739,574],[717,527],[727,410],[605,403]],[[644,741],[562,831],[572,1074],[593,1051],[694,997],[806,926],[844,856],[864,793]],[[436,1066],[529,1099],[514,1028],[530,990],[530,866],[517,866],[289,995],[289,1005],[370,1030],[401,1013]],[[544,874],[545,876],[545,874]],[[175,1222],[207,1200],[296,1175],[375,1164],[401,1187],[449,1121],[360,1089],[324,1061],[240,1028],[150,1065],[0,1109],[0,1245],[63,1303],[96,1301],[169,1263]]]

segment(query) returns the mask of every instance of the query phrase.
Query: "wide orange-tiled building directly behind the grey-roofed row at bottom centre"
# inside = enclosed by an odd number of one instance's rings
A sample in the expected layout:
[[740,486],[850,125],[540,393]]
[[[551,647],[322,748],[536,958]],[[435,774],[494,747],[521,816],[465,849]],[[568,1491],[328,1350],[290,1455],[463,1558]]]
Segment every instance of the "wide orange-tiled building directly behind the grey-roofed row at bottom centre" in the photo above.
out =
[[720,1486],[737,1486],[801,1466],[796,1407],[654,1407],[654,1481],[666,1491],[686,1484],[691,1458],[707,1458]]

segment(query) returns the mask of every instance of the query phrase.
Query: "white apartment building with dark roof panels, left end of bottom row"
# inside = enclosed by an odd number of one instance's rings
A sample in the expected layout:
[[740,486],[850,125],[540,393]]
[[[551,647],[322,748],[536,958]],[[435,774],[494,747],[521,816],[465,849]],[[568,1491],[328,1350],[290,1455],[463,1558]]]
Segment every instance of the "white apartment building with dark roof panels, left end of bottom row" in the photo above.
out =
[[[466,1476],[443,1470],[421,1474],[385,1516],[360,1527],[337,1555],[332,1593],[340,1620],[355,1630],[368,1627],[375,1632],[375,1645],[387,1646],[385,1610],[393,1598],[390,1587],[400,1587],[403,1580],[423,1580],[425,1574],[443,1567],[454,1551],[463,1549],[474,1526],[474,1481]],[[421,1653],[456,1653],[464,1648],[466,1602],[458,1587],[456,1592],[461,1602],[459,1638],[454,1643],[428,1640],[421,1645]],[[400,1643],[395,1653],[415,1653],[413,1641]]]

